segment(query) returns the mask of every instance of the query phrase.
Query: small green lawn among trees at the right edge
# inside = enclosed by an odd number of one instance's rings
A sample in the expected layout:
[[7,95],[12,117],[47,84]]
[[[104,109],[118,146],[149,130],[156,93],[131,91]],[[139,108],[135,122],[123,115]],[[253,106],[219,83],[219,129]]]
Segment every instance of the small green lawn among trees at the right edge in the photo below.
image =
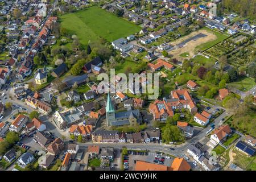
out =
[[241,91],[248,91],[251,88],[253,88],[253,86],[255,86],[255,82],[253,80],[253,78],[249,78],[249,77],[238,77],[238,79],[230,84],[228,84],[229,86],[232,86],[236,89],[239,89]]

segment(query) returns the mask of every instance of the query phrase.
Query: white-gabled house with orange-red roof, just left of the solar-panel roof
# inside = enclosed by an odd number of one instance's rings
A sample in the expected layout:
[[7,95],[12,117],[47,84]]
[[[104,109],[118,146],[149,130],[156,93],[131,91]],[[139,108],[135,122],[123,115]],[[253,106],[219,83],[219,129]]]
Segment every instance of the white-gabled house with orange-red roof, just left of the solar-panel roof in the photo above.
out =
[[224,126],[218,127],[218,129],[215,129],[214,133],[210,135],[210,139],[216,141],[217,143],[221,143],[231,134],[232,134],[232,130],[230,129],[229,125],[224,125]]

